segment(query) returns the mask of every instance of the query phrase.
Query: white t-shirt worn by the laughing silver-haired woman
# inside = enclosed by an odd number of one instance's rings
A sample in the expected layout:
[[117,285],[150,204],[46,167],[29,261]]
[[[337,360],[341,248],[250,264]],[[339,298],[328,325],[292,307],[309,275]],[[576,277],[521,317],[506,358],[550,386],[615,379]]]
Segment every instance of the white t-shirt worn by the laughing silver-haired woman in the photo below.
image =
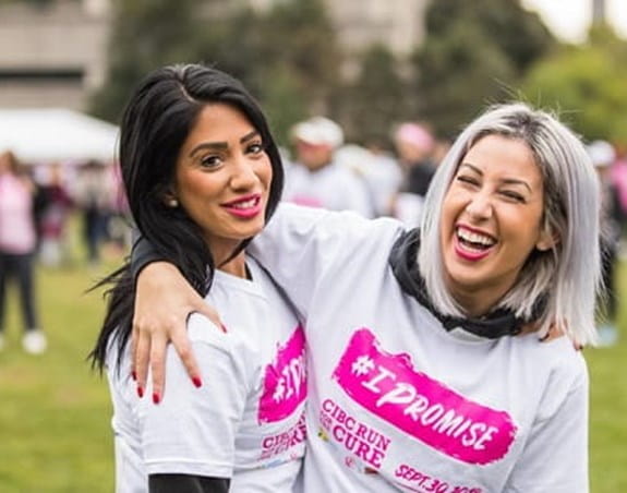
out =
[[581,353],[447,333],[388,265],[401,230],[284,205],[249,249],[306,320],[305,492],[588,492]]

